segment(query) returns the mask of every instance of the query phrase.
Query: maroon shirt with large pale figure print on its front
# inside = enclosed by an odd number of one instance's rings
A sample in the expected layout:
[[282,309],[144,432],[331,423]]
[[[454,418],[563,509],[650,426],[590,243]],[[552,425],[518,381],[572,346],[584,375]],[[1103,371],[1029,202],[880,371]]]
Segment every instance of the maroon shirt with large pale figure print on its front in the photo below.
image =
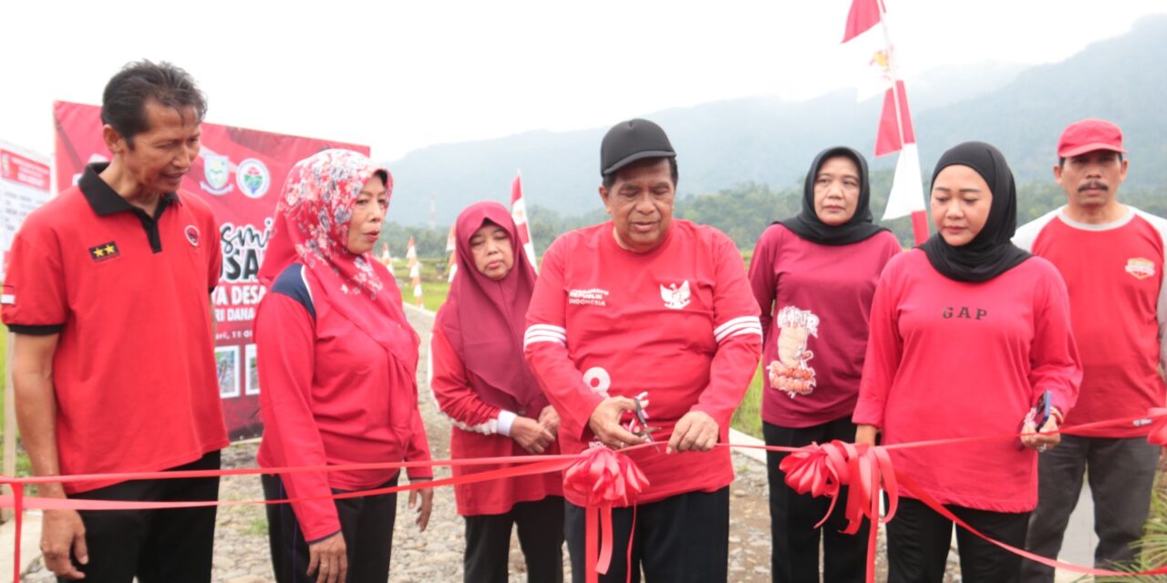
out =
[[[767,423],[803,428],[851,416],[875,283],[900,251],[900,241],[887,231],[851,245],[819,245],[782,225],[762,233],[749,282],[762,308]],[[805,379],[813,381],[811,392],[770,386],[767,371],[775,360],[812,375]]]

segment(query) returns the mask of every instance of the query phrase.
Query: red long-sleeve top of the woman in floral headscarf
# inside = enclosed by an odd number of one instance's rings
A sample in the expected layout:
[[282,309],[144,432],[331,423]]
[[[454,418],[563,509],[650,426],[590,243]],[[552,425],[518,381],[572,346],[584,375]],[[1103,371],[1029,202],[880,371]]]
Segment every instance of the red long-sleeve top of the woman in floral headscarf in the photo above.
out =
[[[260,468],[429,459],[418,412],[415,363],[401,363],[334,310],[308,269],[294,264],[277,278],[256,314],[264,414]],[[357,301],[357,300],[354,300]],[[407,331],[406,331],[407,332]],[[403,333],[404,337],[404,333]],[[390,426],[391,410],[412,409],[411,436]],[[333,489],[379,486],[396,470],[282,473],[288,498]],[[411,468],[411,479],[433,476]],[[330,499],[292,504],[306,541],[341,529]]]

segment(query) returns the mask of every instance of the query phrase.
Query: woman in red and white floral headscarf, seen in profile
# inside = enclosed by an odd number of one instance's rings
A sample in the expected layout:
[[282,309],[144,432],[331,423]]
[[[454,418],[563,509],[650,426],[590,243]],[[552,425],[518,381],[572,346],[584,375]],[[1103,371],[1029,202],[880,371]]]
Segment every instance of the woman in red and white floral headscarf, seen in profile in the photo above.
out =
[[[288,174],[259,271],[267,287],[256,315],[263,468],[429,459],[418,335],[392,275],[371,255],[392,188],[387,170],[341,149]],[[408,475],[432,478],[428,468]],[[296,500],[267,506],[277,581],[384,583],[397,496],[328,497],[397,480],[396,469],[263,476],[267,499]],[[424,529],[432,493],[420,492]]]

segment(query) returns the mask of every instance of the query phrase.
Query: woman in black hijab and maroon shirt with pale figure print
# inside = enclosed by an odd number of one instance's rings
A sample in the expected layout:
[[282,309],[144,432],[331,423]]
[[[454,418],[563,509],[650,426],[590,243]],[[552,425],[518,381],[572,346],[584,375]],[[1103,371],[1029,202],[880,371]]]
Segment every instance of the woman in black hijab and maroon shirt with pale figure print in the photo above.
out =
[[[815,157],[802,212],[770,226],[749,268],[762,308],[762,431],[770,445],[851,441],[851,413],[867,344],[867,315],[880,271],[900,253],[886,229],[872,223],[867,162],[851,148]],[[768,454],[771,573],[776,582],[818,581],[823,539],[825,580],[860,582],[866,535],[846,535],[843,505],[822,527],[826,499],[799,496]],[[864,531],[866,532],[866,531]]]

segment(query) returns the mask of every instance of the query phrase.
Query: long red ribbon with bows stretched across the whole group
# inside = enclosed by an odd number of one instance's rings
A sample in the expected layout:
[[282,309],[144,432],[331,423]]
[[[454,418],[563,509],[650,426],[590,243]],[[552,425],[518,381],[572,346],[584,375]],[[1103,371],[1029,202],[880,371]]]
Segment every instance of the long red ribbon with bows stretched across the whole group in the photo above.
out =
[[[1167,447],[1167,408],[1156,407],[1147,412],[1146,415],[1097,421],[1074,427],[1061,428],[1060,433],[1076,434],[1086,429],[1098,429],[1105,427],[1139,427],[1151,422],[1147,441],[1155,445]],[[783,451],[790,454],[783,459],[782,468],[787,472],[787,483],[799,493],[811,493],[812,496],[830,496],[830,515],[834,508],[837,497],[841,486],[850,487],[847,496],[847,528],[844,532],[854,533],[859,529],[864,518],[873,521],[871,536],[868,539],[868,581],[874,577],[875,539],[878,535],[878,524],[886,524],[895,514],[899,503],[899,484],[903,485],[906,492],[924,503],[941,515],[952,520],[957,526],[997,545],[1011,553],[1039,563],[1065,569],[1074,573],[1105,576],[1138,576],[1167,574],[1167,567],[1144,573],[1118,573],[1103,569],[1092,569],[1069,563],[1062,563],[1042,556],[1034,555],[1022,549],[1011,547],[1002,542],[992,540],[977,532],[964,521],[956,518],[943,505],[932,499],[927,491],[920,489],[908,476],[899,475],[892,468],[892,461],[887,451],[892,449],[913,449],[922,447],[941,447],[958,443],[980,442],[1001,438],[1019,438],[1015,434],[990,435],[978,437],[957,437],[948,440],[932,440],[927,442],[897,443],[886,447],[855,445],[834,441],[825,445],[812,444],[806,448],[784,448],[774,445],[729,445],[719,443],[718,447],[735,447],[748,449],[764,449],[769,451]],[[633,449],[641,449],[649,444],[636,445],[621,450],[622,452]],[[60,498],[26,498],[26,484],[41,483],[70,483],[88,482],[96,479],[131,480],[131,479],[176,479],[197,477],[219,476],[244,476],[256,473],[299,473],[299,472],[330,472],[372,470],[390,468],[433,468],[440,465],[480,465],[480,464],[511,464],[492,471],[471,473],[456,478],[445,478],[438,480],[414,482],[403,486],[368,490],[359,492],[345,492],[342,494],[328,494],[321,497],[306,497],[287,500],[207,500],[207,501],[170,501],[170,503],[142,503],[142,501],[113,501],[113,500],[85,500],[85,499],[60,499]],[[568,464],[571,464],[568,466]],[[567,468],[564,478],[564,486],[576,492],[580,498],[587,500],[587,581],[598,581],[599,573],[607,573],[612,561],[612,508],[617,504],[621,506],[633,506],[633,525],[635,531],[635,500],[645,487],[648,479],[638,468],[622,454],[614,452],[607,448],[593,448],[578,455],[558,456],[513,456],[513,457],[490,457],[490,458],[466,458],[466,459],[434,459],[422,462],[386,462],[371,464],[348,464],[348,465],[324,465],[324,466],[298,466],[298,468],[246,468],[231,470],[197,470],[197,471],[169,471],[169,472],[125,472],[125,473],[99,473],[78,476],[44,476],[11,478],[0,476],[0,483],[9,484],[13,496],[0,496],[0,507],[12,507],[16,519],[16,541],[13,566],[13,581],[20,581],[20,535],[25,508],[71,508],[71,510],[141,510],[141,508],[176,508],[195,506],[226,506],[239,504],[285,504],[302,500],[340,499],[373,496],[380,493],[400,492],[406,490],[418,490],[422,487],[438,487],[455,484],[470,484],[490,479],[505,479],[518,476],[531,476],[550,471],[559,471]],[[888,513],[882,520],[879,517],[879,493],[886,491],[888,494]],[[598,524],[603,522],[603,541],[601,541],[602,557],[595,548],[598,540]],[[825,520],[825,518],[824,518]],[[820,521],[819,525],[823,522]],[[818,526],[818,525],[817,525]],[[602,561],[601,561],[602,559]],[[631,538],[628,548],[628,576],[631,577]],[[601,564],[602,562],[602,564]],[[602,568],[601,568],[602,567]]]

